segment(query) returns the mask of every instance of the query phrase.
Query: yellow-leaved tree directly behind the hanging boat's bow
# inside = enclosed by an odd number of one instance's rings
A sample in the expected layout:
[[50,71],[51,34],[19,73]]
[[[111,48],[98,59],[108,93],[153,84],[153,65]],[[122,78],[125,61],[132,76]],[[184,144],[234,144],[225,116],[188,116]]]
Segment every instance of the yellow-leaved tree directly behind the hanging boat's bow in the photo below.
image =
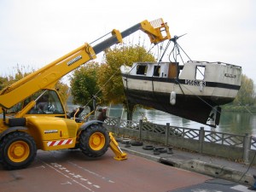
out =
[[120,67],[121,65],[131,66],[133,62],[138,61],[154,61],[154,56],[139,45],[107,49],[105,54],[106,63],[97,73],[97,83],[101,87],[103,101],[113,104],[123,103],[128,108],[127,119],[132,119],[131,111],[134,104],[127,103],[125,100]]

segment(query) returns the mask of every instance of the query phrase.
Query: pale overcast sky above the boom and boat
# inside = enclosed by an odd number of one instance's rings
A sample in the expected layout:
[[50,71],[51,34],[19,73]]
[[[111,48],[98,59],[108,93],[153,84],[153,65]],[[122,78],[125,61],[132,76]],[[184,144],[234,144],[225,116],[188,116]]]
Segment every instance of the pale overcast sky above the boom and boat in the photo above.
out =
[[172,36],[187,33],[178,43],[192,60],[239,65],[256,83],[255,0],[0,0],[0,18],[1,76],[17,64],[44,67],[113,28],[163,18]]

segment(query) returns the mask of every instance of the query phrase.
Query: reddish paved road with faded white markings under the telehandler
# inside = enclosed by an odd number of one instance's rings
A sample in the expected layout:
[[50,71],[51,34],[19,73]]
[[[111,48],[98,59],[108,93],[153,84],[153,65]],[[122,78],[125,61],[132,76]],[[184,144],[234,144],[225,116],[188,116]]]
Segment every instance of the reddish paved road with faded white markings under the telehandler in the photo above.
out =
[[133,154],[128,154],[128,160],[117,161],[111,150],[98,159],[86,158],[79,150],[60,150],[38,151],[36,160],[23,170],[5,171],[0,166],[0,191],[237,192],[247,191],[247,187]]

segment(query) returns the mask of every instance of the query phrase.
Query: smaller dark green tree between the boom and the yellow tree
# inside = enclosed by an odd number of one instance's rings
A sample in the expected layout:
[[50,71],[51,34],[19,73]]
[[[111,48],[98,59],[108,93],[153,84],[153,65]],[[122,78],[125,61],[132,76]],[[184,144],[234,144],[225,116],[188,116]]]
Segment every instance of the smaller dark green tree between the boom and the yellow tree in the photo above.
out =
[[[79,67],[73,73],[73,77],[70,79],[71,94],[73,96],[74,104],[86,105],[91,101],[91,97],[94,96],[99,88],[97,85],[96,71],[99,69],[99,64],[90,61],[86,63],[84,67]],[[88,103],[90,110],[92,110],[92,101]]]

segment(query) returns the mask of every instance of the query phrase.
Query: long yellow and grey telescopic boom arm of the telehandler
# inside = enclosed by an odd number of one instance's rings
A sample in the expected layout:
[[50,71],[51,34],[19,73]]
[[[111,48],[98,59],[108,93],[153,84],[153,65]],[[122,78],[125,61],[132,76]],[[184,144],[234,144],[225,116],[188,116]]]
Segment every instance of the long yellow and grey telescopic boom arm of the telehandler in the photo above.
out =
[[138,30],[146,32],[153,44],[158,44],[171,38],[169,27],[162,19],[151,22],[143,20],[143,22],[131,26],[131,28],[124,32],[113,30],[112,37],[96,44],[94,47],[91,47],[90,44],[84,44],[56,61],[49,63],[47,66],[38,69],[38,71],[20,79],[15,84],[11,84],[9,87],[1,90],[0,113],[3,112],[3,108],[12,108],[15,104],[23,101],[38,90],[54,88],[55,83],[64,75],[72,72],[85,62],[95,59],[96,54],[108,49],[113,44],[122,43],[123,38]]

